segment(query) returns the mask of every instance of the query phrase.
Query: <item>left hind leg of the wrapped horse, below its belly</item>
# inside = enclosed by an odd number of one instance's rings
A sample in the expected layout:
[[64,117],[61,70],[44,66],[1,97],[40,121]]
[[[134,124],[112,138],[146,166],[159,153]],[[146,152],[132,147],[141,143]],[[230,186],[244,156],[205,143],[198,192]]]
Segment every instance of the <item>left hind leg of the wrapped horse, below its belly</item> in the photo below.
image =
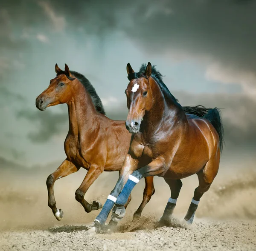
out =
[[182,182],[181,182],[181,180],[169,180],[169,179],[164,179],[164,180],[169,185],[169,187],[171,189],[171,197],[168,200],[166,208],[163,212],[163,216],[161,217],[161,220],[160,220],[161,224],[166,225],[171,220],[172,213],[176,206],[177,198],[179,197],[179,194],[180,194]]

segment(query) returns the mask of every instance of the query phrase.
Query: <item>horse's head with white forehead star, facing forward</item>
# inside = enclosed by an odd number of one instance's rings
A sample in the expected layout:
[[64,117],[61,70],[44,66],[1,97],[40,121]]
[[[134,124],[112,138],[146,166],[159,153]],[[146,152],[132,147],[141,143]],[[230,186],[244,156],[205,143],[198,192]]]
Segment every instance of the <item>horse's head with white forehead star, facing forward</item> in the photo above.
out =
[[[128,76],[134,73],[129,63],[126,69]],[[125,90],[127,107],[129,109],[125,125],[130,133],[137,133],[140,130],[140,123],[145,112],[150,111],[152,107],[152,90],[149,83],[151,73],[152,66],[148,62],[145,73],[142,76],[131,79]]]

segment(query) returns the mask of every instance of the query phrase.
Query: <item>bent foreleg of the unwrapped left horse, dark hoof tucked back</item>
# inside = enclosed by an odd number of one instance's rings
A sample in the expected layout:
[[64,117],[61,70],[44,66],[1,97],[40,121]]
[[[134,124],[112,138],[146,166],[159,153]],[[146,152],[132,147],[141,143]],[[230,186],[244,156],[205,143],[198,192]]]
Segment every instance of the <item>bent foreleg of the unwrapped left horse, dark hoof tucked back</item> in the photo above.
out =
[[102,174],[103,171],[103,168],[100,168],[97,165],[91,165],[89,170],[87,171],[87,174],[84,177],[83,182],[76,190],[76,200],[81,203],[87,213],[90,213],[90,211],[92,210],[98,210],[102,208],[102,204],[97,202],[96,200],[93,201],[92,204],[88,203],[86,200],[84,200],[84,195],[93,184],[93,182],[99,177],[100,174]]

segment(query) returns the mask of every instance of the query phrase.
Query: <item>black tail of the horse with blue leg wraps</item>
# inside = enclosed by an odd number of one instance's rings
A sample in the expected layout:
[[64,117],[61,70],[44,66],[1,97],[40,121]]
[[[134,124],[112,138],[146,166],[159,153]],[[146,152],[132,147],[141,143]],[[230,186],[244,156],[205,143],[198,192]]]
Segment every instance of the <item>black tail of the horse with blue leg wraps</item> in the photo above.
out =
[[224,143],[224,129],[221,121],[221,113],[218,108],[205,108],[204,106],[183,106],[185,113],[193,114],[198,117],[204,117],[211,122],[215,130],[218,132],[220,139],[220,148],[223,149]]

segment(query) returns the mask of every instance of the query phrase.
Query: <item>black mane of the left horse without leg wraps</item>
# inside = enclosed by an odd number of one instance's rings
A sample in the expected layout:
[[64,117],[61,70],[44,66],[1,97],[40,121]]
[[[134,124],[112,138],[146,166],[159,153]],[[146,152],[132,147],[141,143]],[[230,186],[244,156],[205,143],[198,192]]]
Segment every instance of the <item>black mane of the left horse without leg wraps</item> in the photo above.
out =
[[[102,104],[102,101],[101,99],[99,98],[95,88],[93,87],[93,85],[90,83],[90,81],[84,77],[83,74],[77,72],[77,71],[70,71],[70,73],[76,77],[81,83],[82,85],[84,86],[84,88],[88,91],[88,93],[90,94],[90,97],[92,98],[93,100],[93,105],[96,109],[96,111],[98,111],[99,113],[101,114],[104,114],[106,115],[105,113],[105,110],[104,110],[104,107],[103,107],[103,104]],[[65,71],[61,71],[59,72],[58,75],[60,74],[65,74],[67,76],[67,73]],[[68,77],[68,76],[67,76]],[[70,79],[70,77],[68,77]],[[73,80],[73,79],[70,79],[70,80]]]

